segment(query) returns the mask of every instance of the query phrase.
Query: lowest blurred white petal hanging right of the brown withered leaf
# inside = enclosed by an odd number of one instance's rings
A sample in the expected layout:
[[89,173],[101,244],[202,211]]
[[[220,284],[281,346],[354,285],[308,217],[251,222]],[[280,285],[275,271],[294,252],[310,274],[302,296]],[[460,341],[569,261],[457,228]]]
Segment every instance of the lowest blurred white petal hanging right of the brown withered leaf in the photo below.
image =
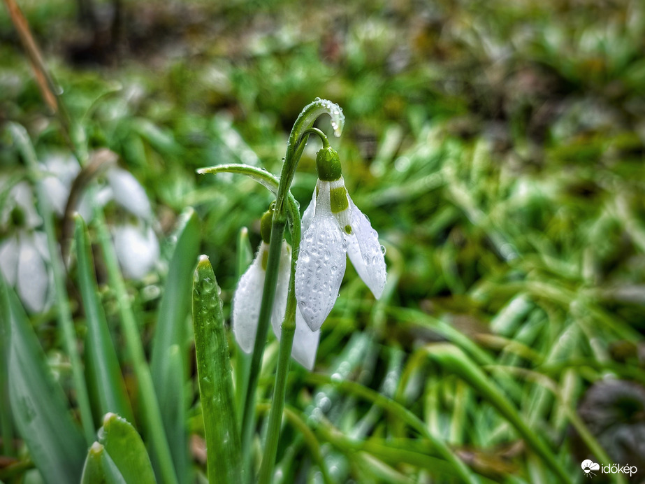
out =
[[115,229],[114,245],[124,276],[143,278],[159,259],[159,241],[152,228],[121,225]]

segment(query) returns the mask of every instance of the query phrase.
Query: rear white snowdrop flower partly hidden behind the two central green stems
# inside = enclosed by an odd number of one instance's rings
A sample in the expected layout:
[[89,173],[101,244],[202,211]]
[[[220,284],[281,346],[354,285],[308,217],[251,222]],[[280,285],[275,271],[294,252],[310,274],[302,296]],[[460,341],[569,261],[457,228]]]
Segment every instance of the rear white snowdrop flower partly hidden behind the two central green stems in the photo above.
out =
[[[262,218],[262,242],[253,259],[251,266],[240,278],[233,296],[232,326],[235,340],[245,353],[251,353],[260,316],[260,304],[266,276],[266,264],[269,255],[269,240],[271,234],[271,218],[273,211],[268,211]],[[289,292],[289,276],[291,275],[291,247],[282,241],[280,266],[277,276],[277,287],[271,313],[271,326],[280,341],[281,325],[284,311],[287,309],[287,294]],[[296,332],[293,335],[291,357],[298,363],[311,370],[316,361],[316,352],[320,339],[320,331],[309,329],[300,310],[296,308]]]

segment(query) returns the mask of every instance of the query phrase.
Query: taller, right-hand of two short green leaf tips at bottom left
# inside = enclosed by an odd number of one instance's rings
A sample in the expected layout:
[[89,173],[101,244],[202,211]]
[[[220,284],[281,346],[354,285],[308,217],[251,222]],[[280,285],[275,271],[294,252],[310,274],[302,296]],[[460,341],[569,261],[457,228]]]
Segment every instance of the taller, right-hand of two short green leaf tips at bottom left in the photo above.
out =
[[119,415],[108,413],[99,429],[105,446],[126,483],[156,483],[145,445],[134,427]]

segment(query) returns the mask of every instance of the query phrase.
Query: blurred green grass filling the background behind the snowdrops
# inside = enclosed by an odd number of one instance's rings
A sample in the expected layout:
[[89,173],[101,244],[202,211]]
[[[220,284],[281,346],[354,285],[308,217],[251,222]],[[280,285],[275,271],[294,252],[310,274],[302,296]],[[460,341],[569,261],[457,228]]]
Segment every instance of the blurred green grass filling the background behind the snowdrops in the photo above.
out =
[[[370,356],[352,366],[354,379],[379,389],[393,371],[391,396],[476,471],[509,482],[549,472],[512,447],[516,434],[488,402],[422,356],[433,342],[460,346],[492,376],[514,369],[509,398],[546,427],[572,478],[579,460],[564,406],[608,375],[645,383],[641,3],[124,2],[122,35],[108,44],[80,27],[73,2],[21,6],[89,148],[110,148],[143,183],[161,233],[196,208],[225,301],[240,226],[259,242],[270,199],[252,182],[195,169],[246,162],[275,173],[300,109],[314,97],[342,106],[346,129],[333,143],[386,246],[391,286],[375,304],[348,270],[317,369],[333,373],[339,348],[366,332]],[[110,3],[96,6],[109,14]],[[0,123],[24,124],[38,155],[65,150],[4,12],[0,40]],[[307,148],[292,188],[303,206],[313,162]],[[1,144],[0,169],[24,172]],[[131,284],[147,322],[159,300],[146,287],[163,283],[161,271]],[[46,350],[59,351],[53,316],[34,320]],[[549,378],[558,398],[520,370]],[[300,378],[292,403],[306,410],[316,395]],[[330,419],[346,433],[375,408],[335,404],[349,416]],[[626,432],[644,425],[628,420]],[[361,437],[410,438],[388,420],[365,428]],[[353,466],[350,476],[374,482],[428,476],[406,464],[389,462],[388,477]]]

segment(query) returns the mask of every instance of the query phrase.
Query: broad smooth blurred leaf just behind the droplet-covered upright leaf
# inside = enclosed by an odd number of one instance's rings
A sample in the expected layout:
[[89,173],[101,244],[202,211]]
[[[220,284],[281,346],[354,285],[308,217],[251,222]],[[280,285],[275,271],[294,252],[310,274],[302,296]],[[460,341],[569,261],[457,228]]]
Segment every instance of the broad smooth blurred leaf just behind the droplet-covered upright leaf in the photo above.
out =
[[150,372],[177,476],[182,481],[191,481],[187,474],[190,466],[184,381],[187,380],[188,373],[186,342],[187,315],[191,306],[191,274],[200,243],[199,218],[192,208],[182,213],[173,237],[176,237],[177,243],[159,306],[157,329],[152,340]]

